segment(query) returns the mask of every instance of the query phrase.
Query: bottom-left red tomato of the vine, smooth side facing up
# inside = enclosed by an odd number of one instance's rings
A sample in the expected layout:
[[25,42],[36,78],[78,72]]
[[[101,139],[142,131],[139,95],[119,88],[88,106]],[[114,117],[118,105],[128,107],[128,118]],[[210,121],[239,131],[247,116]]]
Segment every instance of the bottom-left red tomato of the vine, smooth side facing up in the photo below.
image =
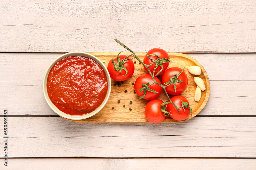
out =
[[161,104],[164,103],[162,100],[155,99],[147,103],[145,107],[145,116],[151,123],[161,123],[165,119],[161,111]]

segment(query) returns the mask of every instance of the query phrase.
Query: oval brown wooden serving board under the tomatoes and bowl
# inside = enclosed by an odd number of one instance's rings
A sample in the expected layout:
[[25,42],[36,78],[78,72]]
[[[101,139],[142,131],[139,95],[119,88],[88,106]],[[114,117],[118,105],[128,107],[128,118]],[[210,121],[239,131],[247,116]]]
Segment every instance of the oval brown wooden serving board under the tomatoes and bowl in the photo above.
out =
[[[105,66],[108,66],[108,62],[118,55],[118,53],[90,53],[94,55],[95,57],[98,57],[101,61],[105,61]],[[130,55],[131,53],[122,53],[125,55]],[[181,94],[182,96],[185,96],[190,106],[192,107],[192,117],[189,116],[186,120],[187,121],[194,116],[196,116],[206,105],[209,94],[210,94],[210,82],[209,78],[207,76],[207,73],[205,69],[201,66],[201,64],[194,59],[193,57],[190,57],[186,54],[182,53],[168,53],[170,56],[170,59],[172,60],[172,64],[169,64],[169,67],[179,67],[184,68],[185,72],[188,76],[188,86],[187,89]],[[140,58],[143,61],[144,56],[146,53],[136,53],[137,57]],[[133,59],[136,60],[136,59]],[[137,60],[136,60],[137,61]],[[202,96],[199,102],[195,102],[194,100],[194,94],[196,90],[196,84],[194,82],[194,75],[191,75],[187,68],[190,66],[199,66],[202,70],[201,75],[199,76],[201,79],[204,80],[206,85],[206,90],[202,91]],[[114,86],[113,84],[116,83],[116,81],[111,80],[112,86],[111,86],[111,94],[109,97],[108,102],[104,106],[104,108],[95,114],[92,117],[89,117],[87,119],[83,120],[70,120],[72,122],[116,122],[116,123],[139,123],[139,122],[148,122],[145,117],[145,106],[148,102],[148,100],[145,99],[139,99],[138,95],[136,93],[133,93],[134,86],[132,85],[132,82],[135,82],[138,76],[142,74],[146,74],[147,72],[144,70],[143,65],[139,64],[137,61],[135,63],[135,71],[133,76],[124,81],[124,84],[121,84],[121,86]],[[158,76],[160,81],[162,79],[161,76]],[[120,82],[121,83],[121,82]],[[124,90],[127,90],[127,93],[124,93]],[[173,97],[173,95],[169,95],[170,98]],[[121,102],[118,103],[117,100],[120,100]],[[164,90],[162,90],[161,95],[158,97],[158,99],[163,100],[164,102],[168,100]],[[132,104],[129,102],[132,101]],[[123,104],[125,104],[125,108],[123,107]],[[112,109],[114,107],[114,109]],[[132,108],[130,111],[129,108]],[[65,118],[64,118],[65,119]],[[176,121],[170,116],[166,116],[165,120],[163,122],[183,122],[183,121]]]

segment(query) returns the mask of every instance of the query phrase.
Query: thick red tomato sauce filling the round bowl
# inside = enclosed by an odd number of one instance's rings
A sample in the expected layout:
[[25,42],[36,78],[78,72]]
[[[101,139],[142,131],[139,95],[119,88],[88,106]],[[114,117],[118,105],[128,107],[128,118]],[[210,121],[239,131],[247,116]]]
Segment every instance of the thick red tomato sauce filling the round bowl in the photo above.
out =
[[103,68],[87,57],[65,57],[56,62],[48,74],[50,100],[69,115],[84,115],[96,110],[107,92],[108,80]]

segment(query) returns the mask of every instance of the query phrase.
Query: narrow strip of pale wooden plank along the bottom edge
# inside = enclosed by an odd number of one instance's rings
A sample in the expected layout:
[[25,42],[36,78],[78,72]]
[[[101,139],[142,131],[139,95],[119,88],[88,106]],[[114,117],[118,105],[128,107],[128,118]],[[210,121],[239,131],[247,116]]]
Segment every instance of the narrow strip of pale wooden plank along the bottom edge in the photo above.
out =
[[[227,166],[228,165],[228,166]],[[8,167],[13,169],[243,169],[256,168],[256,159],[172,159],[172,158],[143,158],[143,159],[107,159],[107,158],[19,158],[9,159]]]

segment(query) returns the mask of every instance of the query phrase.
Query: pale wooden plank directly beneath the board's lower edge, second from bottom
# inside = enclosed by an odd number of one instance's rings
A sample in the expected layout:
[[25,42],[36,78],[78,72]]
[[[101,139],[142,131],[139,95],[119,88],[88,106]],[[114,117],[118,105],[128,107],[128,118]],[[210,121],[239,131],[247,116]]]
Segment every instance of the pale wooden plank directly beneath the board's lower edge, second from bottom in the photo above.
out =
[[124,124],[8,117],[8,156],[249,158],[256,154],[255,121],[256,117],[194,117],[181,123]]

